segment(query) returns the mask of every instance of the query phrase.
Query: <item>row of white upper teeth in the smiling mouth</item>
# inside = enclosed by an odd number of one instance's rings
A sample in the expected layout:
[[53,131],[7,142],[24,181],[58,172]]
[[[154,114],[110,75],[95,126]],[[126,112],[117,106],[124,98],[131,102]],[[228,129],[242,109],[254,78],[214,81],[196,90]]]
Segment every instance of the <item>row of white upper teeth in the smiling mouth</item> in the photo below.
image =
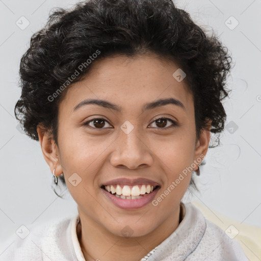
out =
[[[140,185],[139,185],[140,186]],[[139,188],[138,185],[135,186],[127,186],[124,185],[123,188],[121,188],[120,185],[108,185],[105,186],[105,189],[108,192],[111,192],[112,194],[115,194],[117,196],[122,195],[124,198],[128,198],[131,199],[132,197],[135,197],[134,199],[137,199],[138,196],[140,195],[144,195],[144,194],[149,194],[153,191],[154,187],[150,186],[150,185],[141,185],[141,188]],[[116,187],[116,189],[115,189]],[[122,198],[123,198],[122,197]]]

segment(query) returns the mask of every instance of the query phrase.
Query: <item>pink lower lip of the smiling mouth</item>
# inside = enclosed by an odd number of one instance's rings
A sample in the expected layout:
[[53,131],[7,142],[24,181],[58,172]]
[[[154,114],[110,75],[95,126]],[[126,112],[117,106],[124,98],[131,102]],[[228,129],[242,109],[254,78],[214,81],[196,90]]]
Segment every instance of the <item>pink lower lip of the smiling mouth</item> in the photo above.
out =
[[142,198],[138,199],[123,199],[123,198],[117,198],[113,196],[110,192],[108,192],[105,189],[101,189],[102,192],[105,194],[107,198],[109,198],[112,203],[120,208],[123,208],[123,210],[135,210],[136,208],[140,208],[148,204],[153,200],[156,193],[160,190],[160,187],[153,190],[151,193],[149,193],[147,196],[143,196]]

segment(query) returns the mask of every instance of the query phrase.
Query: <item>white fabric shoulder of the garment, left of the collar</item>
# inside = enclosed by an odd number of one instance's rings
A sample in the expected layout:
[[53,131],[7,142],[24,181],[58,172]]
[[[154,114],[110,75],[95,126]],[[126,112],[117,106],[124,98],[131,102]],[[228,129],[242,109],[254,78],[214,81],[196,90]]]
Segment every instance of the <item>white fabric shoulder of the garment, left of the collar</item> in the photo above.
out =
[[[43,223],[21,226],[9,237],[9,247],[0,261],[61,260],[70,245],[70,223],[74,217],[56,218]],[[66,260],[66,259],[62,259]]]

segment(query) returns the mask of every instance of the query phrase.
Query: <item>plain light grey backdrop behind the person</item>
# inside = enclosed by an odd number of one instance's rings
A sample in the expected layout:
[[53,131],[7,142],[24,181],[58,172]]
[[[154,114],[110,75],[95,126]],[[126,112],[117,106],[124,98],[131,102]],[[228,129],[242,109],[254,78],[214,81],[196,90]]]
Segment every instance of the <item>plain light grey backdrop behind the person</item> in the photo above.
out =
[[[39,142],[19,129],[14,106],[20,96],[18,68],[32,34],[45,24],[54,7],[71,7],[69,0],[0,0],[0,253],[5,239],[26,224],[74,216],[69,193],[61,199],[51,189],[53,174]],[[261,1],[175,1],[193,20],[214,30],[232,53],[235,66],[220,146],[208,149],[206,164],[196,177],[200,193],[189,194],[217,215],[261,227]],[[22,22],[21,22],[22,20]],[[26,27],[26,28],[23,28]]]

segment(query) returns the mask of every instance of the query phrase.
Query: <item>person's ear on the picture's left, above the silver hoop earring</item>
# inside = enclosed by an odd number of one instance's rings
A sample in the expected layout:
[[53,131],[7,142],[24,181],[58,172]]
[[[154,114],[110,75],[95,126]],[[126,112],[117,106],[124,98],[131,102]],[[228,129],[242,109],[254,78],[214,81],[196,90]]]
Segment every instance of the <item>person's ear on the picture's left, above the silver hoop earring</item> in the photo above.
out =
[[60,155],[57,144],[49,135],[49,131],[44,128],[41,123],[37,125],[37,133],[44,159],[49,165],[51,173],[53,173],[55,169],[55,175],[61,175],[63,173],[63,170],[60,163]]

